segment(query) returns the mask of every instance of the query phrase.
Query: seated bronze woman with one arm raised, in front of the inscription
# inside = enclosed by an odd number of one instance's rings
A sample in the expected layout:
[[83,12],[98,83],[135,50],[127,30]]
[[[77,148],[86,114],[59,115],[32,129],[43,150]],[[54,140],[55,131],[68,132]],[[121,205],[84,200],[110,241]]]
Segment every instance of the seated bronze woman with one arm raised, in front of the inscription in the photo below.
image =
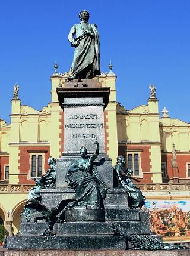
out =
[[97,172],[93,161],[99,155],[99,143],[97,140],[96,153],[87,156],[87,149],[80,148],[81,158],[73,162],[67,171],[66,182],[75,189],[75,201],[68,205],[69,208],[80,206],[82,208],[103,208],[103,199],[109,187],[106,186]]

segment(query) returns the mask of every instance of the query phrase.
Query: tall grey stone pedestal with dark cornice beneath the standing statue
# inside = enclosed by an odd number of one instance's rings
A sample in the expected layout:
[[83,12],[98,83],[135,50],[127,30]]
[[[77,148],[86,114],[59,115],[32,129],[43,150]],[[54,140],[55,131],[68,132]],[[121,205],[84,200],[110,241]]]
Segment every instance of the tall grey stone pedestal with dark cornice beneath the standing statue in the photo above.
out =
[[[80,158],[80,147],[87,148],[87,154],[96,150],[95,139],[99,141],[99,157],[95,165],[107,186],[113,187],[112,162],[105,153],[104,108],[109,102],[109,87],[90,79],[65,83],[57,88],[59,104],[64,111],[64,152],[57,161],[56,187],[68,187],[65,175],[68,166]],[[105,172],[106,170],[106,172]]]

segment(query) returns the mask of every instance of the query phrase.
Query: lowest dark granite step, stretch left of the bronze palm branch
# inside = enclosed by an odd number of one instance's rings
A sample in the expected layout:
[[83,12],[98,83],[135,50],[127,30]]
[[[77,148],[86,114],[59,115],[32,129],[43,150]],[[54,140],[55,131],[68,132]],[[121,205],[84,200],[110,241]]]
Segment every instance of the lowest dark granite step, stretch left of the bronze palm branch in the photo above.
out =
[[9,249],[126,249],[120,236],[16,236],[7,240]]

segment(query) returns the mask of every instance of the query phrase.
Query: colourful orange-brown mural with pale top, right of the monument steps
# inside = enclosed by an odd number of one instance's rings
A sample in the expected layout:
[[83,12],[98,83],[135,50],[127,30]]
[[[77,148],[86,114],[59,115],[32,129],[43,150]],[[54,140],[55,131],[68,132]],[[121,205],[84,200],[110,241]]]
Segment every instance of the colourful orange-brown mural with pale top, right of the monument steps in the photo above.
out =
[[189,237],[190,200],[146,201],[153,232],[166,237]]

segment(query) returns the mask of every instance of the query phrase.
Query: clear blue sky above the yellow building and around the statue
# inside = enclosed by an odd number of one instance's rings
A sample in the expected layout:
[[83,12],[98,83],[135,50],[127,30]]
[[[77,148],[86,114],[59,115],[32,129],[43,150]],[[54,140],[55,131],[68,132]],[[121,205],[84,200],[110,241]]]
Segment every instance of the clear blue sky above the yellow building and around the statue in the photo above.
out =
[[68,32],[84,9],[99,29],[102,72],[112,59],[118,101],[126,109],[147,104],[154,84],[160,113],[166,106],[190,122],[189,0],[1,1],[0,118],[9,122],[15,82],[22,104],[41,110],[50,102],[53,64],[69,70]]

